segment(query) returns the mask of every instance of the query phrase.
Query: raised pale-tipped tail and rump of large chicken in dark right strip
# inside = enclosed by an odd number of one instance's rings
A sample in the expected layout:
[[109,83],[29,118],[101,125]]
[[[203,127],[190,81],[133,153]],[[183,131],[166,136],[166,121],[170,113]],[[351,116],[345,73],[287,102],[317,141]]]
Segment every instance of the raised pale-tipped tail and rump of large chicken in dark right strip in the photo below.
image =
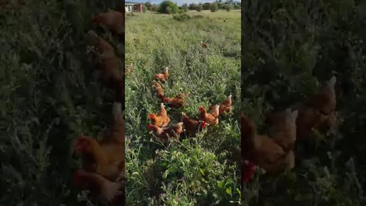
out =
[[291,108],[287,108],[280,113],[276,121],[271,122],[271,127],[268,129],[267,135],[281,146],[284,152],[289,152],[295,147],[296,129],[293,128],[296,128],[297,117],[297,110],[292,112]]

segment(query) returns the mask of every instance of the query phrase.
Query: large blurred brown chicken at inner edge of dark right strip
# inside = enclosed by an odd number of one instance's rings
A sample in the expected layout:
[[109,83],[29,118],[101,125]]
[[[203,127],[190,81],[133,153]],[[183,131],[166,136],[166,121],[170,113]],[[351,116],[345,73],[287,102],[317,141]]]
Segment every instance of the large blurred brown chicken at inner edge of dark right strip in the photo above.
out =
[[242,114],[242,139],[243,143],[247,144],[244,147],[247,149],[244,151],[244,157],[247,156],[249,161],[265,169],[269,175],[277,175],[287,168],[294,168],[294,152],[292,150],[285,152],[275,139],[277,135],[282,136],[284,133],[289,135],[287,137],[289,139],[296,138],[296,136],[291,136],[296,131],[296,124],[291,122],[296,120],[296,113],[297,111],[292,111],[290,115],[287,115],[284,124],[288,123],[288,125],[279,127],[277,134],[272,134],[272,138],[267,135],[259,135],[254,121]]

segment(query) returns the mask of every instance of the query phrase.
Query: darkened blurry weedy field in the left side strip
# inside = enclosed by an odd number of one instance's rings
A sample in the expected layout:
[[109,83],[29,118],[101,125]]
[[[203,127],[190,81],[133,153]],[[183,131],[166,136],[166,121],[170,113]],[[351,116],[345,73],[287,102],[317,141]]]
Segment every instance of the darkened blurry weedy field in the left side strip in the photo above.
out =
[[78,196],[71,175],[76,138],[98,137],[111,121],[114,95],[85,43],[91,19],[108,7],[35,0],[0,10],[0,205],[96,205]]

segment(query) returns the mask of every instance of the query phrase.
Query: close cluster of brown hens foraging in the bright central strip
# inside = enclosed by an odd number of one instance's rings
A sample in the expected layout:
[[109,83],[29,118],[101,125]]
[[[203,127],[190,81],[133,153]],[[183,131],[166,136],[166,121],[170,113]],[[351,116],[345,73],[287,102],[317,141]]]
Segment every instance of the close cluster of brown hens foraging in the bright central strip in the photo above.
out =
[[[154,78],[165,83],[169,77],[168,70],[169,68],[165,67],[165,70],[160,74],[156,74]],[[203,106],[200,106],[198,108],[198,121],[190,119],[184,112],[182,112],[181,122],[168,126],[170,118],[167,115],[164,103],[167,103],[171,108],[184,107],[186,105],[184,100],[190,92],[180,93],[173,98],[167,98],[164,95],[163,87],[155,80],[153,80],[153,89],[157,98],[162,102],[160,103],[160,111],[157,114],[149,114],[148,119],[151,123],[147,125],[147,128],[152,131],[163,144],[168,144],[171,140],[178,140],[183,131],[185,131],[186,135],[194,135],[205,128],[206,125],[214,126],[219,124],[219,115],[232,111],[231,95],[229,95],[223,102],[210,106],[210,113],[208,113]]]

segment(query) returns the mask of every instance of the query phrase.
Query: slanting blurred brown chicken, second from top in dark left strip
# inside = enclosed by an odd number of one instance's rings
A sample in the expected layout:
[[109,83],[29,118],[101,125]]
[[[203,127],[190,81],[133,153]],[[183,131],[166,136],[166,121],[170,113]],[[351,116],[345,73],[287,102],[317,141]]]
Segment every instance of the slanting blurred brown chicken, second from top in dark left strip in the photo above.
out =
[[101,81],[113,88],[119,102],[124,103],[123,64],[115,54],[115,49],[92,30],[88,32],[88,38],[90,44],[96,48],[94,54],[97,55],[98,68],[101,70]]

